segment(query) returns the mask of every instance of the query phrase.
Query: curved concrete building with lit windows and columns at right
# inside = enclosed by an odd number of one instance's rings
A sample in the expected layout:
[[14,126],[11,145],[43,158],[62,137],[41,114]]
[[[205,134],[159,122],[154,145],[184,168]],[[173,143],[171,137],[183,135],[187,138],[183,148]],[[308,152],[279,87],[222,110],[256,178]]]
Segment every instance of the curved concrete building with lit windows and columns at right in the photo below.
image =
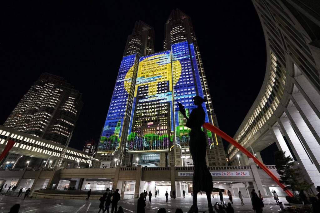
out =
[[[252,2],[265,36],[267,68],[259,95],[234,139],[260,160],[260,151],[276,142],[279,150],[296,158],[305,178],[319,186],[319,2]],[[248,164],[234,146],[227,151],[232,165]]]

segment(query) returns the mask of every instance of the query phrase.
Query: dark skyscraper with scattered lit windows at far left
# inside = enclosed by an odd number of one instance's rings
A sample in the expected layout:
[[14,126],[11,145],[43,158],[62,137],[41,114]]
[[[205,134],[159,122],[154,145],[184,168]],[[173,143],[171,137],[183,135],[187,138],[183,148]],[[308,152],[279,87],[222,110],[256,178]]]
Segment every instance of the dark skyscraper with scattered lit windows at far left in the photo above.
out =
[[81,96],[63,78],[43,73],[3,126],[65,145],[83,105]]

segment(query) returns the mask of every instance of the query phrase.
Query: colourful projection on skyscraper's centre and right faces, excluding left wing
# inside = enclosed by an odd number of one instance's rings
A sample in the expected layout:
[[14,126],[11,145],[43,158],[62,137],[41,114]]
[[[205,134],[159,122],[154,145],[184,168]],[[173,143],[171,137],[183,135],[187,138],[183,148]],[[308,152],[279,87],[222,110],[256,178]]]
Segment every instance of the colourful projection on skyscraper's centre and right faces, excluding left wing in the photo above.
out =
[[[175,144],[188,147],[190,129],[184,126],[186,119],[177,102],[185,106],[189,115],[196,108],[192,101],[196,95],[203,96],[203,92],[192,44],[180,42],[172,44],[171,50],[140,57],[128,151],[168,150]],[[206,112],[205,104],[203,107]],[[206,115],[205,122],[208,121]],[[211,132],[207,134],[211,144]]]

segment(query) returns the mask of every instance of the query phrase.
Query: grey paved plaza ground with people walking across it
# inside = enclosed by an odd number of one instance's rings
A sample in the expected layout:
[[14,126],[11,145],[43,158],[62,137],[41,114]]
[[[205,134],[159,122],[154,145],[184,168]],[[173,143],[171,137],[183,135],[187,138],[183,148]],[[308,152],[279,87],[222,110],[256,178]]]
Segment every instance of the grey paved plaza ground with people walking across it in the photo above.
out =
[[[284,197],[279,197],[280,201],[286,202]],[[211,199],[212,204],[219,202],[218,198]],[[273,198],[264,199],[265,207],[263,212],[278,212],[280,210],[279,206],[276,206]],[[228,202],[228,198],[225,197],[225,202]],[[98,212],[99,200],[70,200],[70,199],[44,199],[44,198],[17,198],[11,196],[0,195],[0,213],[8,213],[13,204],[19,203],[21,205],[19,213],[22,212],[65,212],[65,213],[85,213],[85,212]],[[167,209],[167,212],[175,212],[175,209],[181,208],[183,212],[187,212],[191,206],[192,198],[169,198],[169,202],[165,202],[165,198],[155,198],[152,197],[151,204],[146,206],[146,213],[156,213],[159,208]],[[249,198],[244,198],[244,206],[241,206],[241,201],[239,198],[234,197],[233,207],[235,212],[249,213],[253,212],[251,200]],[[136,210],[137,199],[121,200],[118,206],[124,208],[124,212],[137,212]],[[207,200],[205,195],[198,195],[198,208],[200,210],[208,210]],[[110,206],[111,210],[111,206]],[[102,212],[102,211],[101,211]],[[111,212],[111,211],[110,211]],[[208,213],[208,211],[206,212]]]

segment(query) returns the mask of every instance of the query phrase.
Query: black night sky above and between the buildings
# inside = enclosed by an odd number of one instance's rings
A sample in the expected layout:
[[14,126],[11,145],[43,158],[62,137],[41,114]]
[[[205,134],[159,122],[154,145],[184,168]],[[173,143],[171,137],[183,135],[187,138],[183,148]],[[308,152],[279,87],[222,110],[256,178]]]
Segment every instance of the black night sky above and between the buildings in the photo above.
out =
[[[164,23],[179,8],[192,20],[220,129],[234,136],[266,70],[265,40],[251,1],[216,1],[214,7],[186,1],[63,3],[1,3],[0,124],[40,74],[49,72],[83,94],[70,146],[98,141],[135,21],[154,27],[155,51],[161,51]],[[262,153],[265,164],[272,164],[269,154]]]

